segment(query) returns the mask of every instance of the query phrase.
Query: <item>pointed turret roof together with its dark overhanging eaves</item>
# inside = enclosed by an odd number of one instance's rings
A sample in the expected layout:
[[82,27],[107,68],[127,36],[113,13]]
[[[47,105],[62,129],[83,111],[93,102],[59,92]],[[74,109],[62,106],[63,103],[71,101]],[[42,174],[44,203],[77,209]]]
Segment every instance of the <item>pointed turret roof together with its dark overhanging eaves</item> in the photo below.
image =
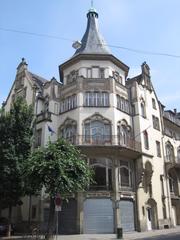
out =
[[[66,84],[65,75],[69,66],[72,67],[72,65],[76,65],[78,62],[87,60],[111,62],[116,69],[121,69],[123,71],[125,78],[127,77],[129,67],[111,53],[99,31],[98,16],[97,11],[91,7],[87,13],[87,27],[84,36],[82,37],[80,47],[68,61],[59,66],[60,79],[62,83]],[[95,63],[95,65],[97,65],[97,63]]]

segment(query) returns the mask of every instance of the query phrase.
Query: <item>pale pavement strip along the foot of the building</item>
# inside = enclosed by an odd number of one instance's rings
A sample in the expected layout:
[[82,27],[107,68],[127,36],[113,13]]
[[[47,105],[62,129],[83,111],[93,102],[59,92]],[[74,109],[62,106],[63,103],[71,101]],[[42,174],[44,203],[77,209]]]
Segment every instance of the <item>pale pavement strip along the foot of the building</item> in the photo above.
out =
[[[135,240],[135,239],[144,239],[147,237],[155,237],[155,236],[163,236],[167,234],[180,234],[180,226],[176,228],[170,229],[163,229],[163,230],[153,230],[148,232],[131,232],[125,233],[123,235],[123,240]],[[0,237],[0,239],[8,240],[14,239],[19,240],[22,239],[20,236],[12,236],[11,238],[8,237]],[[58,235],[54,237],[54,240],[115,240],[115,234],[78,234],[78,235]]]

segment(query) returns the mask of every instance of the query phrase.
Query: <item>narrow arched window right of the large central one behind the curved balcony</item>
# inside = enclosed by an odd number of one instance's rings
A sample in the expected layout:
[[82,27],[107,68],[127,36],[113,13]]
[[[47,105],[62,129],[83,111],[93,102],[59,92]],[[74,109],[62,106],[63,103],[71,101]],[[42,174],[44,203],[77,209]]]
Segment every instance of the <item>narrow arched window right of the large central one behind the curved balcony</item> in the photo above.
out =
[[131,127],[127,124],[126,120],[118,122],[117,133],[119,145],[122,146],[131,145]]

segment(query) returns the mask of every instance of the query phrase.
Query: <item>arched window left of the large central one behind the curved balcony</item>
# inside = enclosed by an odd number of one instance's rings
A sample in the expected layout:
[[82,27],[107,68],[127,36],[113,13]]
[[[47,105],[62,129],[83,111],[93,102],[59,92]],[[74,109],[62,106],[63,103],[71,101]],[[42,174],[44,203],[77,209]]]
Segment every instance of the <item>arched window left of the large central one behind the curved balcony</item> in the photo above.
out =
[[71,143],[76,143],[77,123],[75,120],[66,119],[59,128],[59,136]]

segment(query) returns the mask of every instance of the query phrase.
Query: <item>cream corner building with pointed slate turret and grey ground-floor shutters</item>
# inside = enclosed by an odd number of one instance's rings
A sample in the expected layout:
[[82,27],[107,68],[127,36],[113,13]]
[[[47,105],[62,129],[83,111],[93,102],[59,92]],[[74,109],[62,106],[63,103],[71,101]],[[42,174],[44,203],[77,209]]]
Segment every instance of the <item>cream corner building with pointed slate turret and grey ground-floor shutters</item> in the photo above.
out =
[[[108,49],[91,8],[75,54],[59,66],[60,81],[29,72],[24,59],[5,102],[34,105],[34,147],[63,137],[86,154],[95,183],[63,203],[59,232],[145,231],[180,224],[180,113],[165,111],[146,62],[140,75]],[[56,134],[51,134],[48,128]],[[33,197],[31,220],[46,223],[46,196]],[[28,199],[13,209],[28,220]]]

